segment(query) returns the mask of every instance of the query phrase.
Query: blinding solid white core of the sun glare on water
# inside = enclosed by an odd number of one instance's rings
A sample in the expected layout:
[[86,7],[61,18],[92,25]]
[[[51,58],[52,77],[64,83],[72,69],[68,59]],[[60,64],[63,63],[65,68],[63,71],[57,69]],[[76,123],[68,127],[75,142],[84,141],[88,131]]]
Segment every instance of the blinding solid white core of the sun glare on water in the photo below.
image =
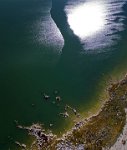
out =
[[106,24],[104,7],[100,3],[86,3],[73,8],[67,15],[73,32],[85,38],[101,31]]

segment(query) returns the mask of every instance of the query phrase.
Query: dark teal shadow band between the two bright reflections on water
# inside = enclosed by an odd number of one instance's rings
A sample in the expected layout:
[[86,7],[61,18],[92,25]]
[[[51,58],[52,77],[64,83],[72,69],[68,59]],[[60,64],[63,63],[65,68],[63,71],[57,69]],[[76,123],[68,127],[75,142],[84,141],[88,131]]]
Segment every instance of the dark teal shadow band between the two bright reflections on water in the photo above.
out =
[[[59,28],[63,38],[64,47],[62,49],[62,55],[71,55],[71,53],[79,53],[82,46],[79,38],[70,29],[67,22],[67,16],[64,11],[64,7],[68,0],[52,0],[51,17]],[[66,54],[67,53],[67,54]]]

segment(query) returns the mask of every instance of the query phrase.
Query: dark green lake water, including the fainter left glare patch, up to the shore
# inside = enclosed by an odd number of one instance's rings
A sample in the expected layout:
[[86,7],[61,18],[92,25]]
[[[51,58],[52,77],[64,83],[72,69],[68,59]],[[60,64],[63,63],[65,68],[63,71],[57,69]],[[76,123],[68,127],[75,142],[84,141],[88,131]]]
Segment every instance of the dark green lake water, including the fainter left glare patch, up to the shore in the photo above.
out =
[[[124,30],[115,33],[120,37],[117,44],[88,53],[61,12],[67,4],[57,0],[53,4],[52,17],[64,37],[64,47],[50,16],[51,0],[0,1],[0,150],[11,147],[8,136],[26,138],[15,128],[14,120],[23,125],[42,122],[46,127],[53,123],[54,131],[63,130],[64,119],[58,114],[65,104],[78,110],[84,105],[85,111],[95,103],[103,76],[117,66],[126,68],[126,19]],[[123,10],[121,15],[126,16],[126,5]],[[52,103],[56,89],[62,97],[60,107]],[[51,96],[49,102],[43,100],[42,91]]]

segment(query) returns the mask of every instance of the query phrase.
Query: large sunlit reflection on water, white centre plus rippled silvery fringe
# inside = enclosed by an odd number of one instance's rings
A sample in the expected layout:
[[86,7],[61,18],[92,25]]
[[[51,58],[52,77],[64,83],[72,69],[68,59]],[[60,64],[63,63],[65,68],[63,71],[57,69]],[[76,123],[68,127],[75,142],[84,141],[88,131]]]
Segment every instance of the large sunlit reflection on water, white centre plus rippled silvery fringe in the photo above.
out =
[[[95,49],[96,52],[100,52],[103,51],[102,48],[117,44],[121,38],[118,32],[125,29],[123,23],[126,19],[123,10],[125,3],[125,0],[68,2],[65,8],[68,22],[72,28],[77,29],[77,35],[79,34],[81,43],[85,44],[84,49],[87,52],[91,50],[95,52]],[[74,32],[76,29],[73,29]]]

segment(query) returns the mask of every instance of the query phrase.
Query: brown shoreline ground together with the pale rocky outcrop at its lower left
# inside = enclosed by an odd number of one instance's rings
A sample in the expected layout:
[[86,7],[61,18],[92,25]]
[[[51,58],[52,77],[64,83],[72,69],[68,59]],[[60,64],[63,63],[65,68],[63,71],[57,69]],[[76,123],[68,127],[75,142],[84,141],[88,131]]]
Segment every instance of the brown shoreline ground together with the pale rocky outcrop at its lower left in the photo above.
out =
[[[53,134],[46,134],[42,131],[40,131],[38,136],[35,132],[28,130],[29,134],[33,135],[35,141],[37,141],[35,142],[36,149],[102,150],[103,148],[110,147],[122,132],[126,122],[127,75],[123,80],[112,83],[107,89],[107,92],[109,99],[105,101],[101,111],[89,119],[77,122],[74,127],[61,138],[57,138],[57,136]],[[29,129],[35,130],[32,126]],[[41,134],[43,134],[43,138],[45,137],[45,139],[48,140],[41,139]],[[42,143],[39,147],[38,143],[40,142]]]

